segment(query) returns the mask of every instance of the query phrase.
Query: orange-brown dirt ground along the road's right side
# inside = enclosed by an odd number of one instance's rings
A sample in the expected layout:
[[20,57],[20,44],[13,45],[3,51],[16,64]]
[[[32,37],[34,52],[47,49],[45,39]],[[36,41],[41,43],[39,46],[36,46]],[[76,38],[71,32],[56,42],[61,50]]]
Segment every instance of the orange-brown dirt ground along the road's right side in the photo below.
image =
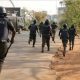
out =
[[53,56],[50,67],[56,70],[56,80],[80,80],[80,41],[76,40],[74,50],[67,50],[65,57],[60,48]]

